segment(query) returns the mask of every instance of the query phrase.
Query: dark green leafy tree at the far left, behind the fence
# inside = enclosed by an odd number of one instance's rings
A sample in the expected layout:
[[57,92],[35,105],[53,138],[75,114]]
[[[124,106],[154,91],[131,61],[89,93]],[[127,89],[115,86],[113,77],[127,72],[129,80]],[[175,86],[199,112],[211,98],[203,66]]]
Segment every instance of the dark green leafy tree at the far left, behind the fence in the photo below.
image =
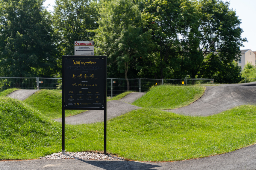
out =
[[42,0],[0,0],[0,75],[49,77],[56,50],[49,13]]

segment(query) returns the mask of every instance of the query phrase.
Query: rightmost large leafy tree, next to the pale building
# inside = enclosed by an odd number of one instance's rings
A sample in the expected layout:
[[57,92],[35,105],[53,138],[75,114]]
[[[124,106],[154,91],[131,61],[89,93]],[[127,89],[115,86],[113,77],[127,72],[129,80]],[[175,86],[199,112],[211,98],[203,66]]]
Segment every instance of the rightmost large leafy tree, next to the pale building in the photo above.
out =
[[198,11],[200,50],[204,56],[199,76],[221,83],[239,82],[241,68],[234,61],[240,59],[240,47],[246,41],[241,38],[240,19],[229,9],[228,2],[220,0],[201,0]]

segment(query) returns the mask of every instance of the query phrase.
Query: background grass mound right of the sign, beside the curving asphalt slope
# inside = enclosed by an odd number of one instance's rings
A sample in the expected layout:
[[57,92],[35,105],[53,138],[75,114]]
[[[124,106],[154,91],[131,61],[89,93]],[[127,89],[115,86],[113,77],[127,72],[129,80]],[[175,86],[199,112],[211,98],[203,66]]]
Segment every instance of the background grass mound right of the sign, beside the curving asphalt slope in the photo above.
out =
[[157,109],[176,109],[199,99],[205,92],[204,86],[155,86],[132,104]]

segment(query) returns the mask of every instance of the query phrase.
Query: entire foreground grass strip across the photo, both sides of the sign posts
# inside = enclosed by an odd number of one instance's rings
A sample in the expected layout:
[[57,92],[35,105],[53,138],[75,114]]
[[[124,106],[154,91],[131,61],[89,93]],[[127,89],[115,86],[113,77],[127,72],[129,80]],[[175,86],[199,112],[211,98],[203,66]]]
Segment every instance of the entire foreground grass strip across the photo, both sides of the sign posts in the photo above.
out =
[[[140,161],[231,152],[255,143],[255,109],[239,106],[208,117],[134,110],[107,121],[107,152]],[[0,123],[1,160],[33,159],[61,151],[61,123],[22,102],[1,98]],[[66,151],[103,150],[103,123],[66,125],[65,135]]]

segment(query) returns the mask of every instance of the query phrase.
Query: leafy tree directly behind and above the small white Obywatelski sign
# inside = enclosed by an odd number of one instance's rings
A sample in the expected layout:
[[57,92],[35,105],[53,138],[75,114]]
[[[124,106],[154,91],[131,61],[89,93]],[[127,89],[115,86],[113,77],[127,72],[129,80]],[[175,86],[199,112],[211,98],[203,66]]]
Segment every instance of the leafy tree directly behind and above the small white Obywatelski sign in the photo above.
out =
[[74,55],[75,41],[93,40],[98,28],[97,1],[56,0],[54,7],[54,29],[59,37],[59,53]]

